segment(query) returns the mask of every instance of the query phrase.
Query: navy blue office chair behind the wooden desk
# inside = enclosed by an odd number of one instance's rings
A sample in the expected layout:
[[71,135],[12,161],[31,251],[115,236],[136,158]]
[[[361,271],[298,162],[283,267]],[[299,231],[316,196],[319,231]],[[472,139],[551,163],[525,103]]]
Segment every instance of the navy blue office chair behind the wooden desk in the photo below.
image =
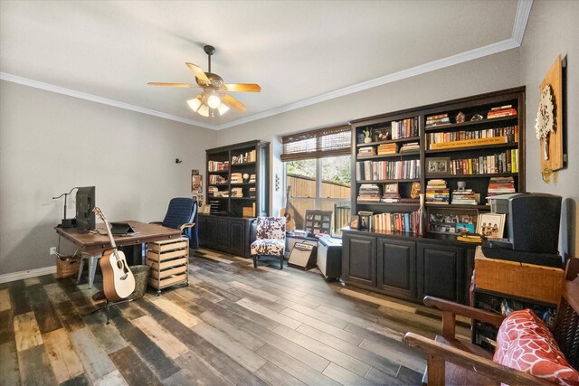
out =
[[151,223],[183,231],[183,235],[189,239],[189,248],[198,249],[199,236],[196,224],[199,220],[197,207],[197,200],[194,198],[173,198],[169,202],[169,208],[166,210],[165,220]]

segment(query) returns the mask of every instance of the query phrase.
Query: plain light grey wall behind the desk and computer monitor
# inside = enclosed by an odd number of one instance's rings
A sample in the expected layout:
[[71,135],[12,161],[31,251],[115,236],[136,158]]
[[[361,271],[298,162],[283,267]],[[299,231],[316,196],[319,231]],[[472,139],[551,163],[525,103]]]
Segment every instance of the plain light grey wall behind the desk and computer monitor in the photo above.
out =
[[110,220],[160,221],[215,145],[211,130],[7,81],[0,112],[0,274],[54,265],[63,201],[52,196],[95,185]]

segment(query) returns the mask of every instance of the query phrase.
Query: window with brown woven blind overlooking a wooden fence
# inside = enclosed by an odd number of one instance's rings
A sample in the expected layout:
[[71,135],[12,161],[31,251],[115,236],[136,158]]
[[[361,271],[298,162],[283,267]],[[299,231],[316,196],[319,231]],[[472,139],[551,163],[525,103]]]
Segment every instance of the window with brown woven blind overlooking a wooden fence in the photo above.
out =
[[296,227],[303,229],[307,210],[334,212],[333,233],[346,225],[350,213],[351,132],[329,127],[283,137],[289,207]]

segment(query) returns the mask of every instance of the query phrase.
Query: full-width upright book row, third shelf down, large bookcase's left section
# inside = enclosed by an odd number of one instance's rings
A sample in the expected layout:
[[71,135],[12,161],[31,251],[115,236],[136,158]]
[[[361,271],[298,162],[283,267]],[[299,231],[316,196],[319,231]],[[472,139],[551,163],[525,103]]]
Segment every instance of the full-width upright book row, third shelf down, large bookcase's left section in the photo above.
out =
[[356,162],[357,181],[409,180],[420,178],[420,160]]

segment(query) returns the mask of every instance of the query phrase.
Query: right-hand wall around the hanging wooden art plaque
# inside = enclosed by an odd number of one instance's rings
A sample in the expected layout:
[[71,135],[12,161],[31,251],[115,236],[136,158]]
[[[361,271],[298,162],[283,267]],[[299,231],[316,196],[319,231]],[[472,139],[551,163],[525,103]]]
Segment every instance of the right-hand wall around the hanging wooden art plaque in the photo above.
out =
[[[521,79],[527,85],[527,191],[563,196],[559,250],[577,257],[576,231],[579,202],[579,2],[535,1],[528,19],[521,53]],[[567,55],[566,143],[567,167],[558,172],[556,183],[545,184],[539,165],[539,145],[535,134],[539,84],[558,54]]]

